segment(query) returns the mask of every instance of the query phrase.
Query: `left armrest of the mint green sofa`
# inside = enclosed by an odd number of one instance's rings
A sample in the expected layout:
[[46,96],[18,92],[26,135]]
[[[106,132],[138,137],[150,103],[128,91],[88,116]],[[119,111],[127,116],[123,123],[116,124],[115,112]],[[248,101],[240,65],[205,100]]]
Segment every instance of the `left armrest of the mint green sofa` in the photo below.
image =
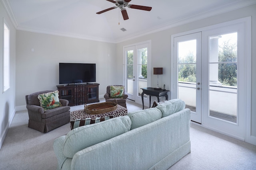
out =
[[63,154],[63,146],[64,146],[64,141],[65,141],[65,135],[58,137],[57,139],[54,140],[53,143],[53,150],[56,154],[57,160],[58,160],[58,168],[62,168],[62,164],[65,162],[67,157]]

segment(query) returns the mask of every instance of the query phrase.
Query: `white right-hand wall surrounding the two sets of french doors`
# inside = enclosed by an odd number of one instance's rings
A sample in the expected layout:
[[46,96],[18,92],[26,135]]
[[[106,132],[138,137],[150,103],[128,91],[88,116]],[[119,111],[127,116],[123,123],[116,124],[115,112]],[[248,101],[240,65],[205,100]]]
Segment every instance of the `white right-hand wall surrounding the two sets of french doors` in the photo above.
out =
[[[122,47],[134,43],[139,43],[146,40],[151,40],[151,56],[152,56],[152,68],[162,66],[164,68],[163,75],[159,78],[159,86],[166,84],[166,89],[170,90],[171,83],[171,35],[198,29],[226,21],[236,20],[252,16],[252,111],[251,111],[251,135],[252,142],[256,145],[256,5],[248,6],[210,18],[206,18],[199,21],[194,21],[178,27],[173,27],[165,31],[158,33],[152,33],[143,37],[135,38],[129,41],[125,41],[117,44],[117,56],[122,55]],[[120,65],[122,63],[119,63]],[[157,81],[157,77],[152,72],[151,84]],[[168,94],[169,95],[169,94]]]

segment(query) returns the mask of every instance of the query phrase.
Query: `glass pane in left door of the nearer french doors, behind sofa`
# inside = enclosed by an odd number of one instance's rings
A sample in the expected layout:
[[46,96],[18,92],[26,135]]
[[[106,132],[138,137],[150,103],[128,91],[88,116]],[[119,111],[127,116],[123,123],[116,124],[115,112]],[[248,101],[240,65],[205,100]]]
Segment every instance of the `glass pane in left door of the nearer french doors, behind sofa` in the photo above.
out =
[[196,39],[178,43],[178,98],[196,112]]

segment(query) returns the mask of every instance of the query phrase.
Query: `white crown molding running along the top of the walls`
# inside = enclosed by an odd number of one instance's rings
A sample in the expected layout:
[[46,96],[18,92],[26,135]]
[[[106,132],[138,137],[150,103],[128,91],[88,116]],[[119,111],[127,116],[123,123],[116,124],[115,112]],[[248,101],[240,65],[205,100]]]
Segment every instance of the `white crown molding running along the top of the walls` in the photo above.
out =
[[171,21],[169,23],[165,23],[165,24],[162,24],[157,27],[150,28],[150,29],[146,29],[146,30],[128,35],[126,37],[122,37],[120,39],[104,39],[101,37],[92,37],[90,35],[84,35],[84,34],[68,33],[68,32],[55,31],[55,30],[50,30],[50,29],[42,29],[42,28],[38,28],[38,27],[28,27],[26,25],[18,25],[18,22],[16,21],[16,17],[14,15],[14,12],[12,10],[9,0],[1,0],[1,2],[2,2],[6,12],[8,13],[10,20],[12,21],[12,24],[14,25],[14,27],[17,30],[30,31],[30,32],[35,32],[35,33],[44,33],[44,34],[50,34],[50,35],[58,35],[58,36],[64,36],[64,37],[72,37],[72,38],[78,38],[78,39],[87,39],[87,40],[100,41],[100,42],[106,42],[106,43],[120,43],[123,41],[127,41],[130,39],[142,37],[144,35],[149,35],[152,33],[164,31],[164,30],[170,29],[172,27],[177,27],[180,25],[194,22],[194,21],[202,20],[204,18],[216,16],[218,14],[222,14],[225,12],[229,12],[232,10],[236,10],[239,8],[243,8],[246,6],[256,4],[255,0],[234,0],[234,1],[232,1],[228,4],[225,4],[223,6],[216,6],[215,8],[212,8],[210,10],[204,10],[203,12],[196,13],[194,15],[190,15],[189,17],[180,18],[178,20]]

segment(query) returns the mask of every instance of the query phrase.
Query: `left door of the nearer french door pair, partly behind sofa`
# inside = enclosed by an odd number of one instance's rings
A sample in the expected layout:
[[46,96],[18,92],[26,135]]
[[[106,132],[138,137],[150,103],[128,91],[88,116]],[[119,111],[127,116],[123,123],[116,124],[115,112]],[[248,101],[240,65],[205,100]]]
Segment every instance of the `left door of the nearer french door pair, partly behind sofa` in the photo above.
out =
[[191,120],[201,123],[201,32],[175,37],[174,56],[177,83],[173,93],[191,110]]

